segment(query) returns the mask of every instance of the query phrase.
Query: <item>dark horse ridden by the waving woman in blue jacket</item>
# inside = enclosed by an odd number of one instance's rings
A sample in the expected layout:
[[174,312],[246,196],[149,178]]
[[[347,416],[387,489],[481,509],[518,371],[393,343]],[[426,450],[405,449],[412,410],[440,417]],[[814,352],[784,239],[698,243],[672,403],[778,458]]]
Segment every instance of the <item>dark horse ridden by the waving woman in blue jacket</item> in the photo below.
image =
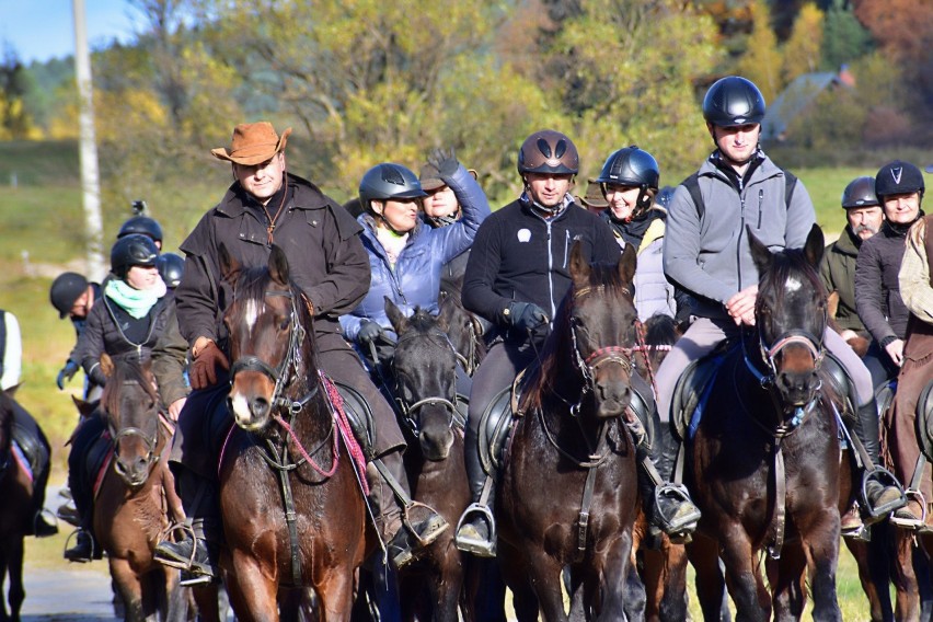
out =
[[[416,308],[406,318],[388,298],[385,313],[398,335],[389,381],[408,440],[405,470],[412,497],[457,525],[471,495],[463,458],[464,422],[458,421],[458,358],[446,333],[448,315],[441,312],[435,318]],[[464,566],[473,560],[457,549],[453,535],[452,529],[447,530],[417,562],[399,573],[405,620],[459,620]],[[464,606],[465,619],[472,620],[472,608]]]

